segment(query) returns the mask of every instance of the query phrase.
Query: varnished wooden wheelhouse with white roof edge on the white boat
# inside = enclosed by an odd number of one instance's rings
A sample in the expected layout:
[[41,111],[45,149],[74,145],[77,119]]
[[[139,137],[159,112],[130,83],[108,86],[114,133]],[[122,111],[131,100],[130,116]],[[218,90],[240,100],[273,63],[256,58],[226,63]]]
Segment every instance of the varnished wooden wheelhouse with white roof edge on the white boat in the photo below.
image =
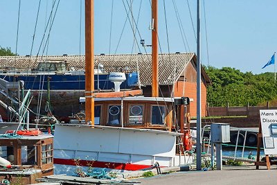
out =
[[[80,98],[80,103],[84,104],[84,98]],[[187,127],[188,119],[185,117],[188,112],[187,97],[95,98],[94,125],[172,131],[183,125]],[[84,123],[84,114],[79,114],[78,117]]]

